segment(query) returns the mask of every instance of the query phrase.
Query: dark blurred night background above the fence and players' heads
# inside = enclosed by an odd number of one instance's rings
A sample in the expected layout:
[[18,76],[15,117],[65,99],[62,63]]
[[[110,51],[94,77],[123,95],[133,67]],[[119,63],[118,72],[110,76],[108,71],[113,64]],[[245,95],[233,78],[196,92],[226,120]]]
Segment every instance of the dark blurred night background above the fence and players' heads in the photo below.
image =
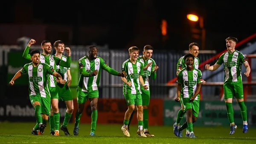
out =
[[[189,13],[204,18],[205,50],[222,51],[228,36],[242,40],[256,32],[255,5],[245,1],[7,0],[1,5],[0,26],[47,26],[43,32],[33,27],[29,30],[44,35],[42,39],[60,39],[70,45],[96,43],[108,44],[110,49],[128,49],[151,44],[157,50],[188,49],[189,43],[201,44],[201,38],[193,37],[192,32],[192,28],[200,30],[199,24],[186,18]],[[161,34],[162,20],[167,21],[166,37]],[[26,32],[19,36],[29,37]],[[0,44],[17,42],[2,39]]]

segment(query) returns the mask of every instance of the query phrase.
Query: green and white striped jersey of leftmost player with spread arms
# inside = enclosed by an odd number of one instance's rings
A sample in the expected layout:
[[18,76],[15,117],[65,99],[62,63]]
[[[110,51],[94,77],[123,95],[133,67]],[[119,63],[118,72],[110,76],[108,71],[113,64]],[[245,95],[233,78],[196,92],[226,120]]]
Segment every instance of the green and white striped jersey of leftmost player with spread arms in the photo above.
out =
[[27,72],[29,75],[29,96],[50,97],[47,75],[52,75],[55,72],[52,66],[41,62],[38,66],[33,66],[33,63],[27,63],[23,66],[21,72]]

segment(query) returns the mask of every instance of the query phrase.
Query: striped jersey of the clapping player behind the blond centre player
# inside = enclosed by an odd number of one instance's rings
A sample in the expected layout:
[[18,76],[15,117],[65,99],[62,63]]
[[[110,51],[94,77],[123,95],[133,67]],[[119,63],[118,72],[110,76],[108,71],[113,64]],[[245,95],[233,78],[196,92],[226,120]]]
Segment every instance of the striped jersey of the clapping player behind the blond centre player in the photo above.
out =
[[[139,60],[141,63],[143,63],[143,67],[145,67],[148,63],[152,63],[150,66],[148,66],[148,69],[143,70],[143,76],[142,76],[144,83],[149,86],[149,78],[150,78],[151,72],[154,71],[154,66],[156,65],[156,63],[153,58],[144,60],[142,55],[139,56],[139,58],[137,60]],[[147,89],[147,90],[149,90],[149,89]]]

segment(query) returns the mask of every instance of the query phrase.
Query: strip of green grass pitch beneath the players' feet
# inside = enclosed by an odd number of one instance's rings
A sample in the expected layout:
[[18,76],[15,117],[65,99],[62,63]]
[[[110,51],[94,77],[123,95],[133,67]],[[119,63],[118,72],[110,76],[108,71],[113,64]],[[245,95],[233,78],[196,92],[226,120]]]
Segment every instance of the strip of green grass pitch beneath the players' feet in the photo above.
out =
[[[256,129],[249,127],[248,133],[242,132],[238,127],[233,135],[229,135],[229,127],[194,127],[198,138],[177,138],[173,134],[172,126],[150,126],[149,130],[155,135],[153,138],[142,138],[136,135],[137,126],[131,126],[131,137],[122,134],[122,125],[102,125],[96,127],[97,137],[90,137],[90,124],[80,124],[79,136],[73,135],[74,124],[69,124],[71,136],[65,136],[60,131],[60,136],[49,135],[49,124],[44,135],[32,135],[31,130],[35,123],[10,123],[0,122],[1,144],[253,144],[256,141]],[[183,136],[185,131],[183,132]]]

